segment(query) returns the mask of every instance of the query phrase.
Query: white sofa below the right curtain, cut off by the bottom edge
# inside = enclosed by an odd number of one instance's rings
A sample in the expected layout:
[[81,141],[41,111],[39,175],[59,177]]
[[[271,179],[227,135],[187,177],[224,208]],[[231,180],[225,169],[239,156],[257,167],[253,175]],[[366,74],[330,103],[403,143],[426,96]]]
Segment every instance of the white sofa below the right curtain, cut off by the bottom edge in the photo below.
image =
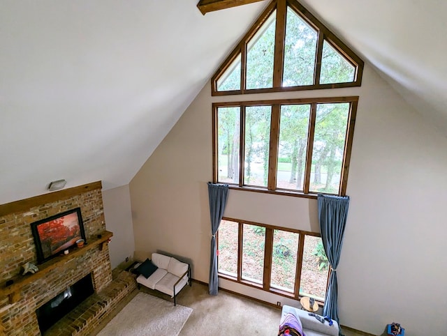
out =
[[282,307],[281,321],[283,321],[284,316],[287,313],[295,315],[295,317],[301,321],[302,331],[306,336],[338,336],[339,326],[337,321],[332,321],[332,326],[329,326],[328,321],[321,323],[315,316],[309,316],[309,312],[306,310],[300,310],[288,305]]

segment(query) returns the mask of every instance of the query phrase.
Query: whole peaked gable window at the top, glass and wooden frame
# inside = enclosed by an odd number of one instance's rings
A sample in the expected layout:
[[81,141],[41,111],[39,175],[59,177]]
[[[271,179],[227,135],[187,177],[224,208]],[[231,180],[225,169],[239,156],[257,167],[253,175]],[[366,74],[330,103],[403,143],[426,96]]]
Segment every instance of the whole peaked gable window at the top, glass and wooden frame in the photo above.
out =
[[363,61],[295,0],[274,0],[212,78],[212,95],[360,86]]

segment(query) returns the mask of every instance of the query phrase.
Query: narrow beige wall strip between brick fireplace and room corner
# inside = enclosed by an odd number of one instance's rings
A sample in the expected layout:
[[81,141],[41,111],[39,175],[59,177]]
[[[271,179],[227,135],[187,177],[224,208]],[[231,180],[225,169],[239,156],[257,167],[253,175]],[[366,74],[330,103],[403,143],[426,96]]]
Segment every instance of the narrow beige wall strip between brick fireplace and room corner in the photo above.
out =
[[109,243],[110,263],[117,267],[133,257],[135,241],[129,185],[103,191],[105,228],[113,232]]

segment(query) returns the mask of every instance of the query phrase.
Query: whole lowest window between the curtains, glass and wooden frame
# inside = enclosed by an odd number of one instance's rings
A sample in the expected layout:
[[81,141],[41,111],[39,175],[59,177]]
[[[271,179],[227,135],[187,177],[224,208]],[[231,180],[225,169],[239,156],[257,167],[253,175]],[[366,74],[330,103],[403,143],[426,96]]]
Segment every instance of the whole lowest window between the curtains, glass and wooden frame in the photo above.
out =
[[329,264],[319,234],[224,218],[217,241],[220,277],[324,302]]

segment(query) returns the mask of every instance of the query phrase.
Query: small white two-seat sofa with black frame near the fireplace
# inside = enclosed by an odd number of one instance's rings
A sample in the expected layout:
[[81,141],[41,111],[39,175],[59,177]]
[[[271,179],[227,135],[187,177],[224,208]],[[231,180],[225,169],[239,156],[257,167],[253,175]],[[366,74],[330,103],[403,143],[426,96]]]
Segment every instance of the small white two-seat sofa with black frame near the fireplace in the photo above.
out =
[[161,291],[174,298],[189,283],[191,286],[191,268],[189,264],[178,261],[173,257],[164,254],[152,253],[152,263],[157,266],[157,270],[149,277],[140,274],[137,277],[138,288],[143,286]]

